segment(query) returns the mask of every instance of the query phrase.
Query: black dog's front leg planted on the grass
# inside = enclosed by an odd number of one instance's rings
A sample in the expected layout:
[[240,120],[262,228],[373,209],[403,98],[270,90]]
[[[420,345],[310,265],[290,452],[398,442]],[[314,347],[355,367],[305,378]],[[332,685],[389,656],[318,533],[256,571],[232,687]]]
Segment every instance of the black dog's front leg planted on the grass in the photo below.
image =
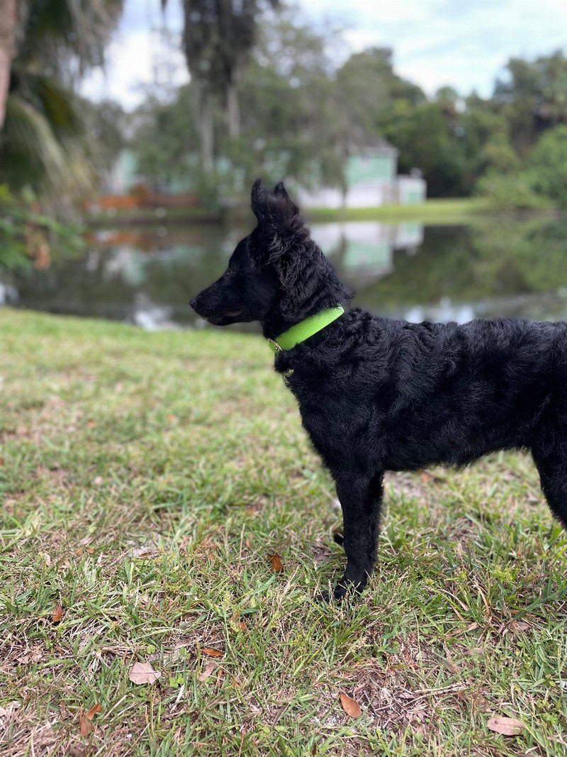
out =
[[342,507],[342,545],[346,553],[345,575],[333,591],[336,600],[349,592],[361,592],[376,562],[383,471],[369,477],[360,472],[333,471]]

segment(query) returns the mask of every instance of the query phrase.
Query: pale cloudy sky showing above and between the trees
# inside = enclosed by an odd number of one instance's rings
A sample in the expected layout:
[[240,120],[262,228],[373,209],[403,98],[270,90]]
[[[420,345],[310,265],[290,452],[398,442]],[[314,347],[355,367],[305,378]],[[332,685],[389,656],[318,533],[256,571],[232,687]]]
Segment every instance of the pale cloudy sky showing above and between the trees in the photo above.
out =
[[[395,72],[427,95],[452,86],[489,97],[510,58],[567,53],[567,0],[299,0],[299,13],[316,28],[344,28],[342,55],[392,48]],[[181,30],[181,0],[168,0],[165,20],[172,33]],[[132,109],[156,69],[163,83],[187,81],[181,51],[160,46],[161,25],[160,0],[125,0],[106,73],[89,76],[83,92]]]

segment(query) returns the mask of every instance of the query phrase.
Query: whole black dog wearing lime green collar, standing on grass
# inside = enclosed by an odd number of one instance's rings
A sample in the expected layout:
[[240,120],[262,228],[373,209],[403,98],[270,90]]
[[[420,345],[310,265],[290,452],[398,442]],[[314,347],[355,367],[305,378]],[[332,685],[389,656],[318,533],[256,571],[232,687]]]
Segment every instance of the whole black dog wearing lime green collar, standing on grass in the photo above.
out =
[[271,341],[342,506],[347,564],[334,597],[361,591],[373,569],[386,470],[522,447],[567,526],[567,324],[343,313],[349,294],[283,184],[256,182],[252,208],[258,226],[191,305],[218,326],[258,320]]

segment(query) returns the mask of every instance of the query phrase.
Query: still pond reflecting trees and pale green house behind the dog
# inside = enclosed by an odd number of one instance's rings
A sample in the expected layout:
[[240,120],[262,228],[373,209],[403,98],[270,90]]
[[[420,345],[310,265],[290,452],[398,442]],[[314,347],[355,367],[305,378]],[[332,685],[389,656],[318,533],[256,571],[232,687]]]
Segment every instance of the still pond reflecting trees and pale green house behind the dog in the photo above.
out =
[[[81,257],[0,278],[0,302],[50,313],[202,326],[189,300],[218,278],[249,229],[215,225],[95,232]],[[469,226],[325,223],[311,235],[354,304],[412,321],[518,316],[567,320],[567,220]],[[1,275],[0,275],[1,276]]]

